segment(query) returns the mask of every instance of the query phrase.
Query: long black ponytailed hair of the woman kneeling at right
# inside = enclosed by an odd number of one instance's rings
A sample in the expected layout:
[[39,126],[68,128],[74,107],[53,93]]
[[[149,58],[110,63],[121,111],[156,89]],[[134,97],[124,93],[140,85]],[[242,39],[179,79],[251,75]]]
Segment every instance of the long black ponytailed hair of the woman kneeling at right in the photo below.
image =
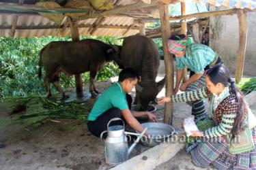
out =
[[233,129],[231,130],[232,139],[235,135],[238,134],[239,131],[243,130],[244,126],[244,118],[247,113],[246,105],[244,102],[244,95],[240,91],[240,89],[236,86],[235,82],[231,80],[229,69],[224,65],[218,64],[208,69],[206,75],[210,79],[213,84],[224,84],[224,86],[229,86],[231,88],[231,95],[235,95],[236,99],[238,100],[238,112],[236,115],[235,123],[233,125]]

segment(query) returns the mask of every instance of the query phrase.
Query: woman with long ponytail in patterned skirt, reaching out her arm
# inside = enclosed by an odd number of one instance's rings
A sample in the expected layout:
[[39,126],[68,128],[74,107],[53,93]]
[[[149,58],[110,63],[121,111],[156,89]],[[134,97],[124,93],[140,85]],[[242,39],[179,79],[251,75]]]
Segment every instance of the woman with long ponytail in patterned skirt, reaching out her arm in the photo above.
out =
[[[199,167],[212,164],[218,169],[256,169],[256,128],[248,120],[252,115],[248,114],[251,109],[244,101],[242,92],[231,81],[229,70],[224,65],[209,69],[205,73],[205,81],[206,87],[171,97],[161,97],[158,103],[210,99],[208,118],[213,121],[213,126],[204,131],[193,132],[193,137],[199,137],[189,150],[193,162]],[[200,121],[197,126],[199,123]],[[240,148],[240,152],[231,154],[230,139],[236,139],[248,126],[251,135],[247,139],[251,141],[251,148]]]

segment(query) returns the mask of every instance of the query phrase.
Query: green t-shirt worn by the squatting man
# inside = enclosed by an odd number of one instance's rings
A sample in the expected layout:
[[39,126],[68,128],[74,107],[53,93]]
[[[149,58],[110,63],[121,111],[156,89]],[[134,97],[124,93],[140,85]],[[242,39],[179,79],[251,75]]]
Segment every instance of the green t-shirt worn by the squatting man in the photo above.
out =
[[102,95],[100,95],[89,113],[88,120],[96,120],[98,116],[113,107],[117,107],[121,110],[129,109],[126,100],[126,92],[124,92],[119,82],[112,84],[102,93]]

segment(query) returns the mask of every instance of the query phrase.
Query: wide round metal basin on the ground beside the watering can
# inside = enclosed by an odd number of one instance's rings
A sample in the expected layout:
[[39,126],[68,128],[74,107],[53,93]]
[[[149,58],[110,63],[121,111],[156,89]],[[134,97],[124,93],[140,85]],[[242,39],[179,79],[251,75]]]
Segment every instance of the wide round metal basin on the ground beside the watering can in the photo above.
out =
[[147,122],[141,125],[144,128],[147,127],[147,133],[150,134],[150,138],[141,138],[141,143],[144,146],[156,146],[163,141],[167,141],[167,139],[175,133],[175,129],[173,128],[173,126],[165,123]]

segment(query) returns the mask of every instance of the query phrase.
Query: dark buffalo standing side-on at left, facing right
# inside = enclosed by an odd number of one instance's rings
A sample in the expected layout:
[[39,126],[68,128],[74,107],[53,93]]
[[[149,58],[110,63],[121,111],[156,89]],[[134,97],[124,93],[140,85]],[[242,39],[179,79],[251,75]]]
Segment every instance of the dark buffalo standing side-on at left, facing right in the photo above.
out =
[[96,39],[84,39],[81,41],[52,41],[42,48],[40,52],[38,77],[42,76],[42,66],[46,71],[44,84],[47,97],[51,97],[50,84],[57,88],[63,98],[68,97],[61,89],[59,75],[75,75],[76,95],[83,97],[83,84],[81,73],[90,71],[89,92],[91,97],[96,97],[98,91],[95,88],[95,78],[99,69],[106,62],[113,61],[117,55],[114,46],[105,44]]

